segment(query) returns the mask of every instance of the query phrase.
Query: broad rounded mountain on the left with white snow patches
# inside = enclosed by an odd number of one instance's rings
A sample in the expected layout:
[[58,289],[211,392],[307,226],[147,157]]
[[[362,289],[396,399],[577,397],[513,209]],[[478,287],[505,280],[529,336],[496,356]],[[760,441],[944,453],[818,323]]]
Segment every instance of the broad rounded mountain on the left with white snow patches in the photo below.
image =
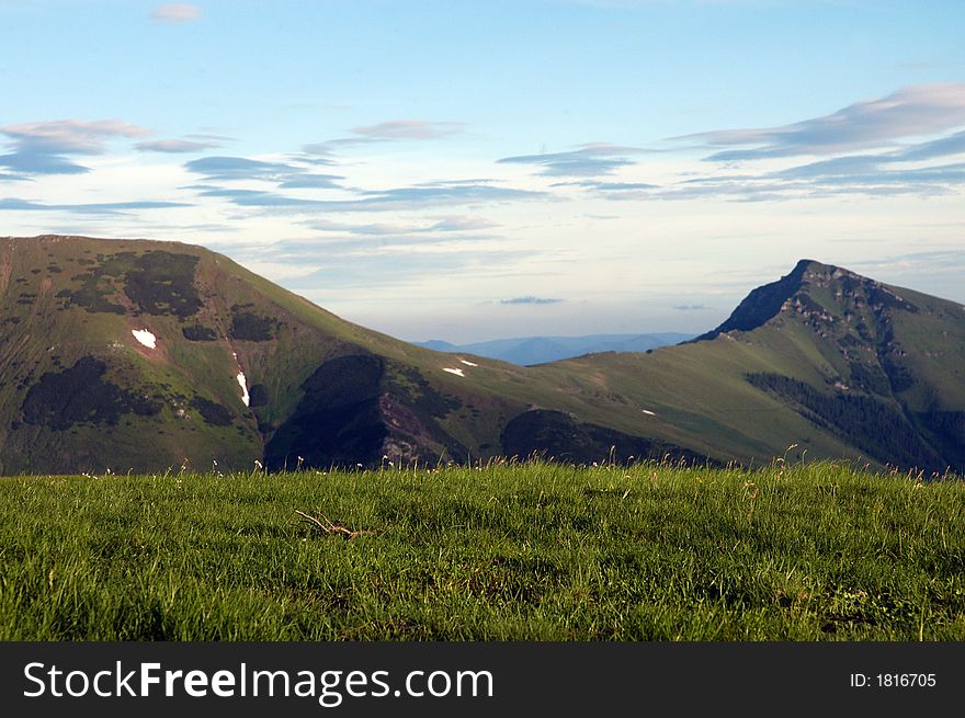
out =
[[[0,238],[0,475],[684,451],[574,419],[583,402],[557,394],[351,324],[200,247]],[[546,407],[533,444],[516,419]]]

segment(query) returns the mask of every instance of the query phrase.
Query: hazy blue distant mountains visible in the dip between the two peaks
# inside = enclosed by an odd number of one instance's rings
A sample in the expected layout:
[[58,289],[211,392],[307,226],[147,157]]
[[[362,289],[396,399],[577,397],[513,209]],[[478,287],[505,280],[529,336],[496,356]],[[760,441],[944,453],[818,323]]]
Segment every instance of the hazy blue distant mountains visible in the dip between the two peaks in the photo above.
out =
[[646,352],[658,346],[679,344],[693,338],[694,334],[665,332],[658,334],[590,334],[588,337],[518,337],[473,344],[451,344],[433,339],[428,342],[416,342],[416,345],[436,352],[475,354],[520,366],[532,366],[600,352]]

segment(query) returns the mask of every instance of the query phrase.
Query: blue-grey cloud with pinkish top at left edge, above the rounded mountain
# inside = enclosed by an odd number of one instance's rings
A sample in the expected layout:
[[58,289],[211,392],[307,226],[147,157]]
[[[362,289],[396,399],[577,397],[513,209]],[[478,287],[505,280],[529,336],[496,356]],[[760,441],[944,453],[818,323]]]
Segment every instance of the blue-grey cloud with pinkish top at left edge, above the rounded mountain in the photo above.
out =
[[71,156],[103,155],[106,143],[118,137],[144,137],[150,130],[120,119],[57,119],[0,127],[12,151],[0,156],[0,167],[23,175],[81,174],[89,168]]

